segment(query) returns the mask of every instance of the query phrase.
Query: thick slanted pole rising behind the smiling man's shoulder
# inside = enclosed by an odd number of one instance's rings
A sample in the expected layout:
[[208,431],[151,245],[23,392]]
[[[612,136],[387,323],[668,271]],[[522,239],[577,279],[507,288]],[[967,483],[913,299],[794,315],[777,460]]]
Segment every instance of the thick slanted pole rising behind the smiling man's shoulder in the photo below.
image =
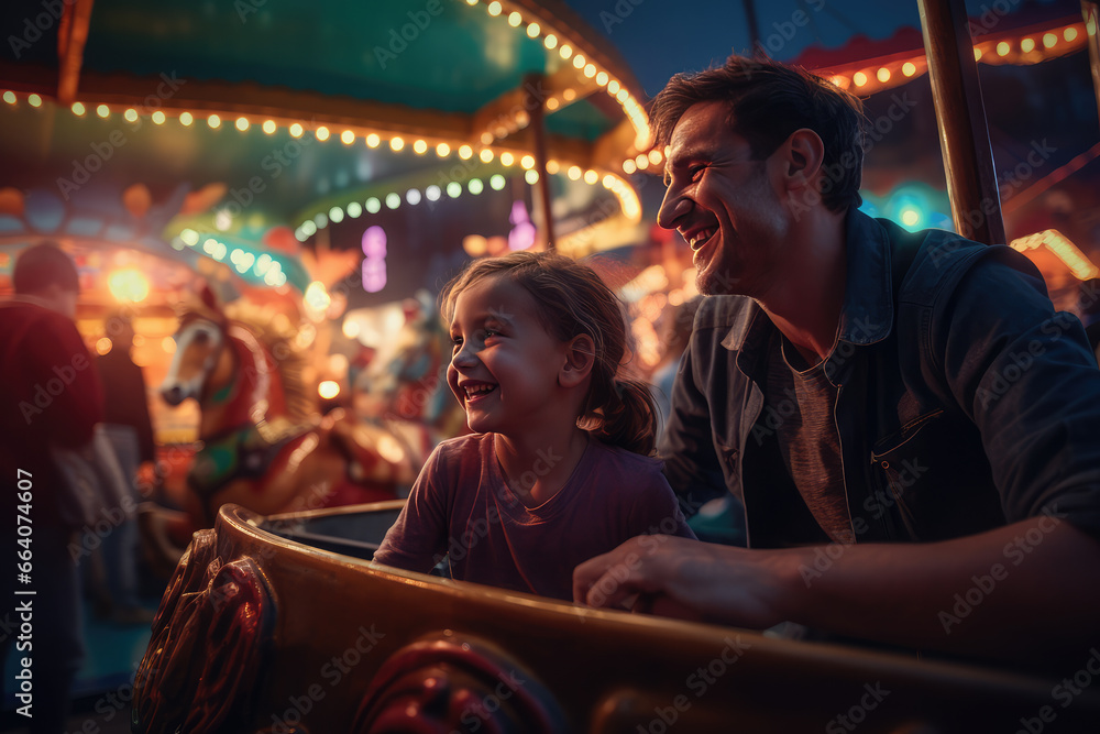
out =
[[1001,200],[963,0],[917,0],[936,105],[955,229],[986,244],[1004,242]]

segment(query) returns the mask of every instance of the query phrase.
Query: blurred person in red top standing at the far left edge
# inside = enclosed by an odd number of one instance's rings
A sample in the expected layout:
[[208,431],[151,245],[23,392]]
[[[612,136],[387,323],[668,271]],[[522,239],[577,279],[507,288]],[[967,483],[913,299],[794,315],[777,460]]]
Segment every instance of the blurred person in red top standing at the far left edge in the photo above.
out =
[[[84,649],[76,562],[68,547],[77,528],[63,519],[56,502],[61,478],[50,447],[85,445],[102,417],[103,398],[74,322],[79,282],[69,256],[54,243],[28,248],[15,262],[12,283],[15,298],[0,305],[0,487],[8,503],[0,539],[12,560],[0,573],[0,660],[9,651],[21,664],[31,659],[33,698],[21,713],[30,714],[25,721],[32,732],[55,733],[64,728]],[[16,515],[29,521],[30,536],[16,536]],[[19,558],[30,558],[30,570],[20,578],[12,567],[23,550],[30,554]],[[16,595],[16,590],[35,593]],[[28,604],[32,632],[23,635]],[[16,700],[20,709],[25,704]]]

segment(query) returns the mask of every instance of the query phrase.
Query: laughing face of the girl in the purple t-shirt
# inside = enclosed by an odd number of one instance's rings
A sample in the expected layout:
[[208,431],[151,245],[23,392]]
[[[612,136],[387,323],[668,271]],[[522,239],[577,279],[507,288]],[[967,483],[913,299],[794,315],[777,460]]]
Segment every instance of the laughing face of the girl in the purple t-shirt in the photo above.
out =
[[455,298],[447,383],[471,430],[517,436],[560,419],[558,375],[566,346],[547,333],[536,307],[526,288],[499,275],[472,283]]

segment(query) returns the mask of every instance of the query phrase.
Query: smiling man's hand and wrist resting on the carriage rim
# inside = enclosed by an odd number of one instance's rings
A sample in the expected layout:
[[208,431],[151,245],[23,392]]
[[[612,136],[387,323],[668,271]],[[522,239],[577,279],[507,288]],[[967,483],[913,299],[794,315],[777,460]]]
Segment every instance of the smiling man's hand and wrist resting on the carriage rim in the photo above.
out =
[[642,535],[578,566],[573,599],[762,629],[784,620],[776,583],[782,557]]

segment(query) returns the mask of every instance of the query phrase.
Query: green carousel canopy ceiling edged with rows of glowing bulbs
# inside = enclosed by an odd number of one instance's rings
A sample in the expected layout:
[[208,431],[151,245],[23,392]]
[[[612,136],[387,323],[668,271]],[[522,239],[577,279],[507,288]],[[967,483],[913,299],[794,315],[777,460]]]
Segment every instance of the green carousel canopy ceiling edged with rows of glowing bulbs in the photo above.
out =
[[561,234],[640,220],[622,171],[647,150],[640,89],[560,2],[16,0],[3,17],[0,244],[232,256],[263,281],[262,254],[359,249],[369,220],[399,230],[392,250],[461,253],[538,218],[543,185]]

